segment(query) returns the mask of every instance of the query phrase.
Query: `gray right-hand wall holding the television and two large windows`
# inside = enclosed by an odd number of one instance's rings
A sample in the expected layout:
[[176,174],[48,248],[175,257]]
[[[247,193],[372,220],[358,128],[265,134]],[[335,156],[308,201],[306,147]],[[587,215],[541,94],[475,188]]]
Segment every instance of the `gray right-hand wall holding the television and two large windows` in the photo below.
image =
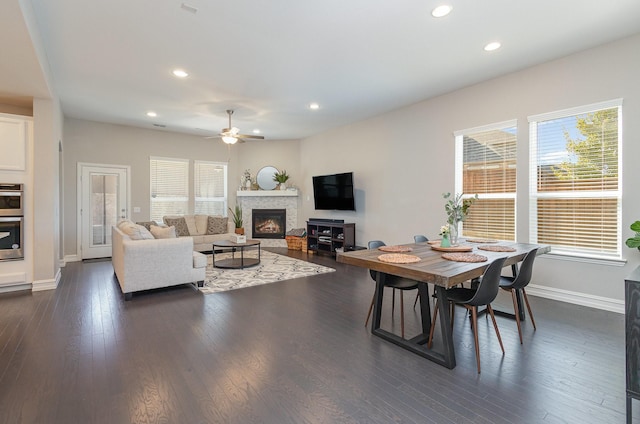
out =
[[[454,190],[453,132],[517,119],[517,238],[528,241],[527,116],[623,98],[624,242],[631,235],[629,225],[640,219],[638,75],[640,36],[634,36],[305,139],[300,152],[305,191],[311,189],[311,175],[354,171],[358,211],[320,214],[305,198],[302,215],[356,222],[361,245],[371,239],[409,242],[416,233],[436,237],[445,222],[441,194]],[[625,266],[547,255],[539,260],[534,282],[550,297],[578,296],[583,304],[619,308],[624,277],[640,264],[637,250],[623,247],[623,253]]]

